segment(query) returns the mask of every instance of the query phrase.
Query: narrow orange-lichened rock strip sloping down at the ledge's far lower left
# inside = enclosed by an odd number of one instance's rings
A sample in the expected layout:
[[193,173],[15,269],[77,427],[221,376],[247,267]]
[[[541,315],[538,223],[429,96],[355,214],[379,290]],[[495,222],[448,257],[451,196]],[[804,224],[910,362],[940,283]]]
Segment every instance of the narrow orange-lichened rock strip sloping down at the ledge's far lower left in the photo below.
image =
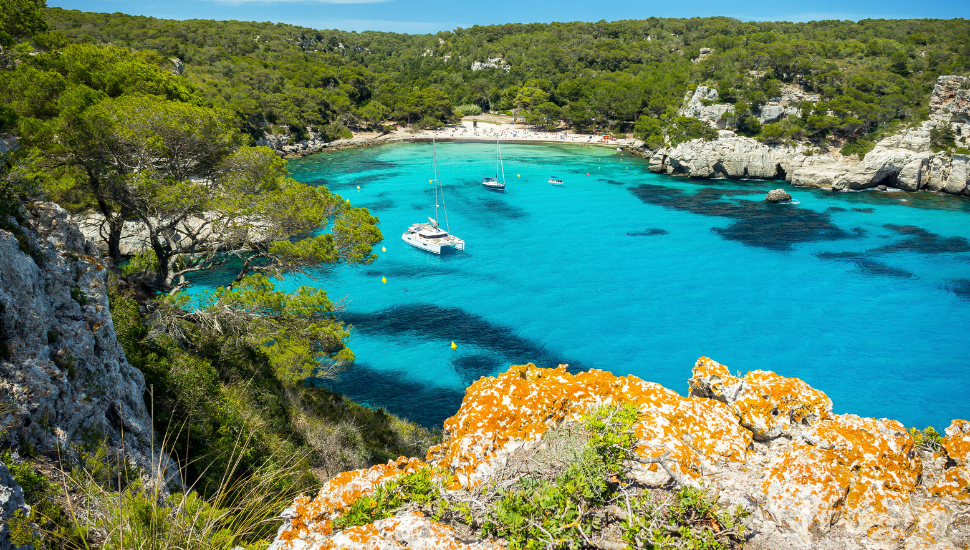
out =
[[363,495],[378,486],[414,472],[424,466],[417,458],[400,457],[387,464],[351,470],[337,475],[323,485],[313,500],[298,497],[283,517],[287,522],[280,529],[274,548],[300,550],[308,547],[308,540],[330,535],[332,522],[340,513]]

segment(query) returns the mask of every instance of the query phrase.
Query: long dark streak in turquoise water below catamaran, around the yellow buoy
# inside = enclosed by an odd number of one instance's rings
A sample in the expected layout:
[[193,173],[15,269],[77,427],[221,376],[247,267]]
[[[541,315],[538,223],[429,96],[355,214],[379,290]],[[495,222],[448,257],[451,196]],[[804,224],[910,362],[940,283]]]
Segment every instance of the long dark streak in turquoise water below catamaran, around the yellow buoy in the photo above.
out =
[[584,370],[578,362],[517,336],[511,327],[492,323],[461,308],[407,304],[373,313],[344,312],[340,319],[362,333],[456,341],[488,350],[509,363],[535,363],[540,367],[568,363],[570,372]]

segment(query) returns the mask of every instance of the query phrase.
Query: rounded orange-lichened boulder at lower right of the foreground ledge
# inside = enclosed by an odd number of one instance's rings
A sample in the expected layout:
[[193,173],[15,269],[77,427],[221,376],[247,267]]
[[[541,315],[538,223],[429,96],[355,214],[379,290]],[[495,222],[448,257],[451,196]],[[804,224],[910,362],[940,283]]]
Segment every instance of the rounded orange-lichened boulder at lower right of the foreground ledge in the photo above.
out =
[[838,415],[773,457],[762,491],[775,520],[806,539],[810,530],[826,532],[832,525],[893,538],[912,522],[909,497],[921,472],[902,424]]

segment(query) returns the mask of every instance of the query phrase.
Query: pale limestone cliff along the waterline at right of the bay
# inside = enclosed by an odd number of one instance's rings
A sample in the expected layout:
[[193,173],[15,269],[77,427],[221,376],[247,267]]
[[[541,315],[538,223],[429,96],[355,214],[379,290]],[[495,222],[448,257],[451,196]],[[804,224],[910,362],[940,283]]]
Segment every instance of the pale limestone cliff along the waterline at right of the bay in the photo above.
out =
[[930,131],[941,125],[953,130],[958,145],[967,143],[968,83],[968,77],[940,77],[930,101],[930,120],[883,139],[861,161],[836,152],[807,155],[809,149],[803,145],[768,146],[722,132],[714,141],[694,140],[654,152],[650,170],[692,178],[784,179],[797,186],[836,191],[881,185],[970,195],[970,157],[930,151]]

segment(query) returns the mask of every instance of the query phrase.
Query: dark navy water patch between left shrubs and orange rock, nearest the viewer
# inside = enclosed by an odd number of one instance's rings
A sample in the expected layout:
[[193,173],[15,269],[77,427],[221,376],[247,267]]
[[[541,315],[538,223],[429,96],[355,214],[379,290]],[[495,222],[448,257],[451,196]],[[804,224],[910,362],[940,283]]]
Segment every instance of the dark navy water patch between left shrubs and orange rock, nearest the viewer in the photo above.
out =
[[405,372],[376,369],[360,362],[334,379],[316,379],[313,383],[363,405],[383,407],[426,428],[441,428],[458,412],[465,397],[464,390],[416,382]]

